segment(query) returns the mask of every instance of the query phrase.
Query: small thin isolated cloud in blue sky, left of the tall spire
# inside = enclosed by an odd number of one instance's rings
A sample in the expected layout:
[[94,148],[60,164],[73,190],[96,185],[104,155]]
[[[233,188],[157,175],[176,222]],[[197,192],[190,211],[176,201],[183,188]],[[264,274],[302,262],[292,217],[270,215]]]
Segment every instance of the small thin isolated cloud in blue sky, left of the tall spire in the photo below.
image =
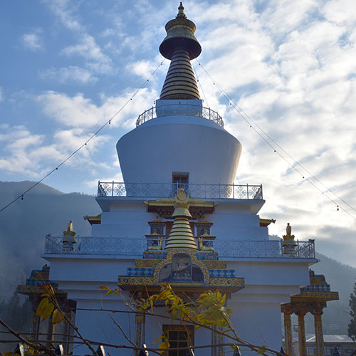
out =
[[84,85],[95,83],[98,80],[98,78],[95,77],[90,70],[77,66],[41,70],[39,72],[39,76],[43,80],[56,80],[56,82],[62,84],[68,82],[75,82],[80,85]]

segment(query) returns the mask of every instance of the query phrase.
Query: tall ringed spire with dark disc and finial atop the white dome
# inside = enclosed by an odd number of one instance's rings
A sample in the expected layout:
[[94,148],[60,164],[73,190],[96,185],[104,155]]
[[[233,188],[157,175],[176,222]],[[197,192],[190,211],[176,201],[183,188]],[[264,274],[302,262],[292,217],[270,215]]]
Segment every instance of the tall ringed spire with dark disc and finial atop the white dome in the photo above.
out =
[[201,46],[194,36],[195,28],[180,3],[176,18],[166,24],[167,36],[159,46],[162,56],[172,60],[159,99],[200,99],[190,63],[201,53]]

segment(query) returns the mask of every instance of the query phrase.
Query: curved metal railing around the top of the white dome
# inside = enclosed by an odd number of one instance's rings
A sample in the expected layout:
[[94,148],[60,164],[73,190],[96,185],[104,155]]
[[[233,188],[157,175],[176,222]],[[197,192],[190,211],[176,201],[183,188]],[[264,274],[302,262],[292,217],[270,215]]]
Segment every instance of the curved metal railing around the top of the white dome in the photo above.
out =
[[152,107],[139,115],[136,121],[136,127],[142,125],[148,120],[169,115],[189,115],[203,117],[204,119],[211,120],[216,122],[216,124],[220,125],[221,127],[224,127],[224,121],[216,111],[211,110],[210,108],[204,108],[199,105],[189,104],[169,104],[159,107]]

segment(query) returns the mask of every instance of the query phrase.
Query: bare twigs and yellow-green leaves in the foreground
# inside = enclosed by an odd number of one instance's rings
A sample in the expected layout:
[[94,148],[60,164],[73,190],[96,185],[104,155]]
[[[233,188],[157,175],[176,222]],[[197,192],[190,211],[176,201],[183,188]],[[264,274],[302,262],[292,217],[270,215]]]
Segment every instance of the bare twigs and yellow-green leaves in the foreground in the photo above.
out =
[[[230,308],[226,308],[225,301],[226,295],[222,295],[219,290],[216,291],[206,291],[205,293],[201,293],[197,300],[192,300],[188,295],[184,293],[182,295],[178,295],[174,293],[171,286],[167,284],[165,288],[153,295],[148,295],[147,298],[125,300],[124,295],[119,288],[110,289],[108,287],[100,287],[102,290],[106,290],[106,295],[120,295],[122,300],[124,300],[125,305],[128,310],[106,310],[111,311],[112,313],[135,313],[135,314],[144,314],[146,316],[151,317],[160,317],[160,318],[168,318],[173,322],[174,320],[178,320],[181,325],[194,325],[195,328],[206,328],[208,330],[214,330],[216,333],[221,333],[229,339],[227,344],[231,349],[234,350],[234,355],[240,355],[239,347],[244,346],[248,347],[250,350],[255,351],[259,355],[265,356],[283,356],[281,352],[276,350],[272,350],[268,348],[266,345],[253,345],[246,340],[242,340],[239,335],[236,333],[236,330],[230,322],[230,316],[232,310]],[[68,318],[68,316],[63,313],[61,310],[61,306],[58,304],[56,300],[56,295],[52,286],[46,285],[43,286],[43,299],[41,303],[39,303],[38,308],[36,310],[36,316],[40,320],[46,320],[47,318],[51,319],[51,323],[57,324],[61,323],[63,319],[66,319],[67,322],[73,327],[75,330],[76,340],[75,344],[85,344],[90,353],[94,356],[100,356],[103,354],[101,351],[102,345],[108,347],[114,347],[117,349],[125,348],[131,349],[135,352],[144,352],[145,350],[152,352],[155,355],[162,355],[164,352],[169,350],[184,350],[184,352],[189,352],[191,355],[194,355],[192,346],[189,347],[177,347],[177,348],[169,348],[169,340],[167,340],[166,336],[158,337],[155,342],[160,342],[158,347],[146,347],[143,345],[135,345],[135,342],[130,340],[125,333],[125,330],[115,322],[115,320],[110,316],[112,321],[115,323],[117,328],[120,330],[122,335],[129,342],[129,345],[112,345],[105,344],[100,342],[95,342],[95,340],[87,340],[83,335],[80,334],[80,330],[78,327]],[[156,303],[162,305],[162,303],[167,308],[168,315],[161,315],[154,313],[153,308]],[[98,311],[97,309],[90,309]],[[104,311],[103,309],[101,309]],[[0,319],[0,324],[9,330],[10,333],[15,335],[25,347],[25,355],[49,355],[49,356],[57,356],[55,345],[53,343],[48,345],[47,342],[39,342],[23,337],[21,333],[17,333],[15,330],[11,329],[9,325],[6,325],[3,320]],[[221,327],[221,330],[213,329],[214,326]],[[98,347],[99,346],[99,347]],[[211,347],[212,345],[199,345],[199,347]],[[218,346],[218,345],[215,345]],[[95,351],[96,347],[98,350]],[[5,352],[4,356],[18,356],[14,352]],[[20,355],[19,355],[20,356]]]

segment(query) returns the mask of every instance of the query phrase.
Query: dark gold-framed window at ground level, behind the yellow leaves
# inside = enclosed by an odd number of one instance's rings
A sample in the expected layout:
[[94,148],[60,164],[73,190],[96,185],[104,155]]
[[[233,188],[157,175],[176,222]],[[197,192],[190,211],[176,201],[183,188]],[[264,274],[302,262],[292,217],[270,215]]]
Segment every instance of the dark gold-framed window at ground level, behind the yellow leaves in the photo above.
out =
[[[169,340],[169,348],[194,346],[194,326],[163,325],[164,336]],[[166,356],[185,356],[187,350],[172,350]]]

